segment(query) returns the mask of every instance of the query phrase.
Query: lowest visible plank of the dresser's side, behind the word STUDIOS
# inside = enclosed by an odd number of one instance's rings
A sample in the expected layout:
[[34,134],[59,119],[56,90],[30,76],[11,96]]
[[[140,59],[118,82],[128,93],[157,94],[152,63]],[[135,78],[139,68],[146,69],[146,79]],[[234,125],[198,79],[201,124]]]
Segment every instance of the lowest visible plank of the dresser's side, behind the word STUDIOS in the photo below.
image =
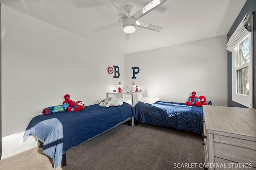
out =
[[230,160],[214,157],[215,170],[256,170],[252,164],[242,164]]

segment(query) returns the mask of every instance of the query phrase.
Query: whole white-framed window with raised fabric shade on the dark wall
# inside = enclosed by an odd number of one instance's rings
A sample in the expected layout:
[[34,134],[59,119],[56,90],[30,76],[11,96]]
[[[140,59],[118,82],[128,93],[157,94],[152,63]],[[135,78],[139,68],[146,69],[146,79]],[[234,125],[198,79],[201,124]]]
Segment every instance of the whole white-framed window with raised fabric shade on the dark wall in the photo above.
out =
[[232,52],[232,100],[253,107],[252,14],[248,13],[228,40]]

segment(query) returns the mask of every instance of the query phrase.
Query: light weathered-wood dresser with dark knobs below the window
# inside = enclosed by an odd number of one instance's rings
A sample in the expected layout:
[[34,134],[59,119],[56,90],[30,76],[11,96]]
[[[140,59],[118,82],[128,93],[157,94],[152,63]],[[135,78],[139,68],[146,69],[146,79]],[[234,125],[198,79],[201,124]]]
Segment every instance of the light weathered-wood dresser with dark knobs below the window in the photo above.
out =
[[204,169],[256,170],[256,109],[203,106]]

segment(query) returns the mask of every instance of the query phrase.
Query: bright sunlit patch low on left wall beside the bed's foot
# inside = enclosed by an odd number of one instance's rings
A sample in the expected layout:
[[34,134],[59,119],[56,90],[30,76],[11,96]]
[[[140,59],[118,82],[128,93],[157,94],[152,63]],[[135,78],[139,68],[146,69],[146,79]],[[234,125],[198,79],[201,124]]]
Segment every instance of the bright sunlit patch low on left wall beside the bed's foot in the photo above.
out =
[[37,142],[35,137],[30,136],[28,140],[23,142],[23,135],[24,135],[24,132],[21,132],[21,133],[17,133],[17,134],[2,138],[1,159],[8,158],[15,154],[37,147]]

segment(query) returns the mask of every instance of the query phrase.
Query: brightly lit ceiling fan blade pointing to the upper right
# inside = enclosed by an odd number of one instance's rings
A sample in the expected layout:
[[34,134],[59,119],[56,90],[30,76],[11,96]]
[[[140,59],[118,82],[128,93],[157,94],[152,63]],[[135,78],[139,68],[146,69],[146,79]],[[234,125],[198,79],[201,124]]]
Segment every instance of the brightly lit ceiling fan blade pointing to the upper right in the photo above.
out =
[[146,6],[141,8],[141,10],[136,12],[132,16],[132,18],[134,18],[135,20],[138,20],[138,19],[142,18],[144,15],[148,14],[148,12],[154,10],[154,8],[163,4],[164,2],[166,2],[166,0],[152,0],[149,4],[147,4]]

